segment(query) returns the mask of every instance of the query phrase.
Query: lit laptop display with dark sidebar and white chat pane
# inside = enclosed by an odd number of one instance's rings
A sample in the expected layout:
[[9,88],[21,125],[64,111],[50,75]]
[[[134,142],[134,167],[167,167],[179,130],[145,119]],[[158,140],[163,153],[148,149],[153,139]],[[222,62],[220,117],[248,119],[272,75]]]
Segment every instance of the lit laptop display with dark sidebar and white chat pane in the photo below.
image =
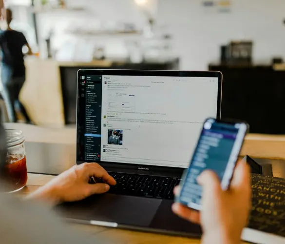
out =
[[203,122],[219,117],[220,78],[202,73],[79,71],[77,161],[188,167]]

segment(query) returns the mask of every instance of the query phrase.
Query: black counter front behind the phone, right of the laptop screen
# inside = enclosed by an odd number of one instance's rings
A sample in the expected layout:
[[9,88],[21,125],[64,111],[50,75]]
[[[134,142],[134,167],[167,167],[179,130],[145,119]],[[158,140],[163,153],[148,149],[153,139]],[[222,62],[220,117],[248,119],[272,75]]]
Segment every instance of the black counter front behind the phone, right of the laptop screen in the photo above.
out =
[[285,71],[269,65],[209,70],[223,73],[222,118],[247,121],[251,133],[285,134]]

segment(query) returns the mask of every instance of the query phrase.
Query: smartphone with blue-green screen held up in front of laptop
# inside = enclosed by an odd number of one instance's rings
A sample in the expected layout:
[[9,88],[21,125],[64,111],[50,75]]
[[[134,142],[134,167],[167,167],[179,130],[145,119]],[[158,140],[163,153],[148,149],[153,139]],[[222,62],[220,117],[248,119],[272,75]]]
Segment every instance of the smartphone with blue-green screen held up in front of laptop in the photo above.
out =
[[196,179],[205,169],[213,170],[221,181],[222,189],[228,189],[247,131],[245,122],[207,119],[189,168],[183,174],[181,191],[175,202],[201,210],[202,187]]

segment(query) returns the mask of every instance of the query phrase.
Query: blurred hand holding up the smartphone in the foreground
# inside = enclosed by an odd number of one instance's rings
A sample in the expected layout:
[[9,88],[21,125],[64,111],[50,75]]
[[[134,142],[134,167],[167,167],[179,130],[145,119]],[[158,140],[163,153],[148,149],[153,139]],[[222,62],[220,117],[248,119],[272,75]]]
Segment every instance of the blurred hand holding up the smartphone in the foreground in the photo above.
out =
[[[230,189],[223,191],[217,175],[204,171],[198,182],[203,186],[201,212],[174,203],[172,210],[178,216],[203,228],[203,243],[239,244],[241,233],[247,225],[251,205],[249,167],[239,162]],[[179,187],[174,193],[179,192]]]

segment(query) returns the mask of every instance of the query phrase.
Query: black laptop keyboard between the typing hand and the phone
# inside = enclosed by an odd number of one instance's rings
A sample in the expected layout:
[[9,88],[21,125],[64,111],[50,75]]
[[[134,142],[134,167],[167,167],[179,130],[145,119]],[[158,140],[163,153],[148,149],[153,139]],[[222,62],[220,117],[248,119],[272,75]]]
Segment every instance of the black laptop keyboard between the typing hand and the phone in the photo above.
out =
[[109,172],[117,182],[109,193],[159,199],[174,199],[173,188],[180,183],[179,178],[131,175]]

